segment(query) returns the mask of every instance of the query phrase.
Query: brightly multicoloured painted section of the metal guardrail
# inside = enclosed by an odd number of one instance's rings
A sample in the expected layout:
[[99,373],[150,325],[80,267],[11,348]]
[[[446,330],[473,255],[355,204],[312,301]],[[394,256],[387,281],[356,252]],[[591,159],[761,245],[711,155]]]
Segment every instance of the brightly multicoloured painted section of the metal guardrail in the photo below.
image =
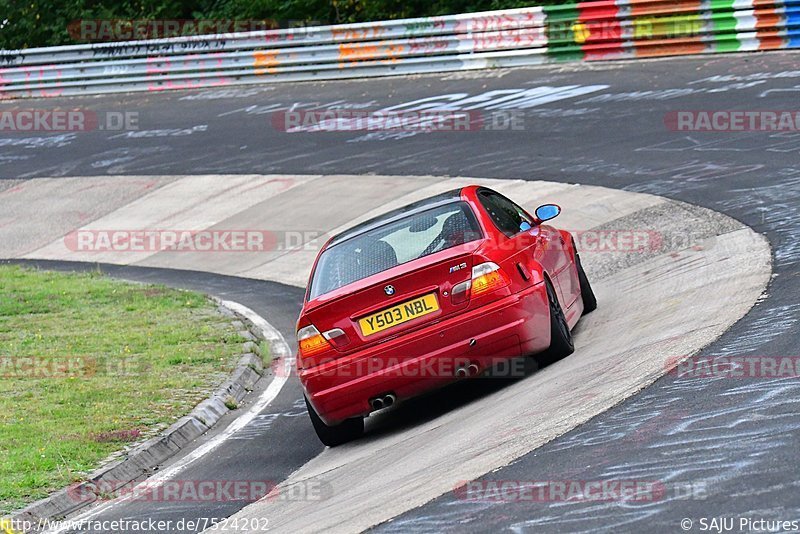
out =
[[800,47],[800,0],[618,0],[545,7],[557,60]]

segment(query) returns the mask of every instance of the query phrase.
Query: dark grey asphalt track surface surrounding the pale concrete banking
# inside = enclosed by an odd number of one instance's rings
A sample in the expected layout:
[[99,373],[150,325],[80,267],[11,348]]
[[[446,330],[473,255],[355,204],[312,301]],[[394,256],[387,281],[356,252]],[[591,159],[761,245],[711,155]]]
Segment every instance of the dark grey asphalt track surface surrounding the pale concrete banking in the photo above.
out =
[[[470,176],[655,194],[724,213],[765,235],[772,247],[773,277],[765,297],[704,354],[797,356],[800,132],[675,132],[665,119],[679,110],[795,109],[800,93],[797,65],[796,55],[769,53],[4,104],[3,108],[59,105],[137,111],[139,130],[4,136],[0,195],[31,178],[109,175],[148,181],[215,174]],[[276,112],[285,110],[374,110],[404,104],[397,109],[408,110],[454,102],[460,109],[485,112],[508,106],[523,113],[515,112],[519,122],[510,129],[484,124],[476,131],[402,138],[366,132],[287,133],[275,127]],[[136,198],[125,187],[118,192],[123,204]],[[45,200],[58,202],[57,197],[44,199],[42,209]],[[41,220],[30,221],[34,230],[52,222],[41,213]],[[78,225],[101,215],[72,216]],[[675,215],[685,216],[680,210]],[[20,222],[13,214],[0,213],[0,236],[4,227]],[[24,243],[14,246],[20,255],[31,252]],[[126,277],[143,272],[122,269]],[[292,306],[299,307],[300,299],[296,288],[200,273],[186,278],[174,272],[148,276],[166,282],[177,277],[187,285],[190,280],[192,287],[219,296],[225,292],[226,298],[263,313],[287,339],[292,335],[297,313]],[[263,298],[255,296],[259,291]],[[618,298],[624,298],[624,290],[620,293]],[[724,304],[728,297],[720,292],[717,298]],[[387,424],[402,428],[435,422],[449,409],[480,403],[500,386],[481,387],[488,389],[460,388],[439,395],[430,403],[432,414],[407,410],[401,421]],[[799,389],[796,379],[686,381],[666,376],[483,479],[662,481],[667,493],[655,502],[470,502],[450,491],[374,528],[674,532],[684,518],[796,519]],[[563,393],[565,402],[570,393]],[[225,448],[209,461],[216,471],[195,476],[252,479],[259,477],[253,470],[260,469],[261,478],[282,480],[315,458],[322,447],[304,410],[293,402],[297,399],[296,385],[283,391],[263,425],[253,429],[254,439]],[[292,434],[280,431],[290,423]],[[259,449],[263,463],[240,463],[236,447],[247,447],[252,454],[259,446],[256,438],[268,432],[280,442],[275,448]],[[172,517],[184,512],[142,507],[113,513]]]

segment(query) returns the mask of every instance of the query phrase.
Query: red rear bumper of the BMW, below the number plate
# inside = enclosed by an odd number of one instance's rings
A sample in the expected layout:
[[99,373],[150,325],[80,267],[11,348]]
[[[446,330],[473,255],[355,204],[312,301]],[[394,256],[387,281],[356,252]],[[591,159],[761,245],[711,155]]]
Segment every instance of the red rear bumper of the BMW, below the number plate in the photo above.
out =
[[537,284],[299,376],[316,412],[335,424],[368,415],[378,395],[407,399],[457,380],[459,367],[483,370],[549,345],[547,294]]

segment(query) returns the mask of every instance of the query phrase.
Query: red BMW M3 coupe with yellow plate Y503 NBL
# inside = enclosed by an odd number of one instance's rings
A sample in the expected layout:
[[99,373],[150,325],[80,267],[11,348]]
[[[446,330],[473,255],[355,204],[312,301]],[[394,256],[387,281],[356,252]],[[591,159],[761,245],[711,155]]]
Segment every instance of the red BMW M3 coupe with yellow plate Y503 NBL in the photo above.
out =
[[457,189],[389,212],[320,251],[297,323],[308,413],[329,446],[364,417],[499,362],[574,350],[597,302],[569,232],[500,193]]

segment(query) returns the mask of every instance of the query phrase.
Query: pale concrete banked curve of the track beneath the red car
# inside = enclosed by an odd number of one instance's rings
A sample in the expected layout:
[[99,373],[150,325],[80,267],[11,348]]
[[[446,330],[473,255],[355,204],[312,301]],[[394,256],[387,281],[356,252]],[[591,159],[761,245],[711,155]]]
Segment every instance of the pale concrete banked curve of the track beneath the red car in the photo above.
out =
[[[358,531],[509,464],[717,339],[753,306],[771,273],[766,240],[741,223],[604,187],[430,176],[146,180],[146,187],[135,177],[13,184],[0,192],[11,214],[0,228],[0,256],[191,269],[303,286],[327,236],[416,199],[481,183],[530,210],[561,205],[554,224],[573,232],[595,285],[600,307],[578,326],[572,356],[436,419],[328,449],[282,485],[321,480],[332,488],[323,502],[261,502],[241,512],[268,517],[281,530]],[[61,202],[49,205],[47,224],[26,226],[37,217],[37,201],[54,194]],[[136,246],[115,247],[114,232],[122,236],[116,242]],[[164,239],[172,243],[184,232],[207,234],[210,248],[162,250]],[[244,234],[240,241],[220,237],[215,246],[214,236],[225,232]]]

